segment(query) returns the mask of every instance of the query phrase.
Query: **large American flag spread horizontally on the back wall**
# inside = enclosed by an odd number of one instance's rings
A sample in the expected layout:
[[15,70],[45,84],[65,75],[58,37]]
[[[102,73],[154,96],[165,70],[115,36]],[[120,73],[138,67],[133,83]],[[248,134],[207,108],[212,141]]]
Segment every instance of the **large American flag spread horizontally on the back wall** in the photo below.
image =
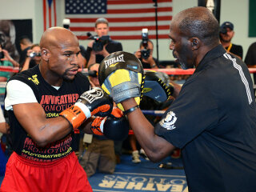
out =
[[[156,38],[155,10],[158,13],[158,38],[168,38],[172,19],[172,0],[65,0],[66,18],[70,30],[79,39],[87,39],[94,32],[97,18],[109,21],[112,39],[141,39],[142,29],[149,30],[149,38]],[[94,33],[93,33],[94,34]]]

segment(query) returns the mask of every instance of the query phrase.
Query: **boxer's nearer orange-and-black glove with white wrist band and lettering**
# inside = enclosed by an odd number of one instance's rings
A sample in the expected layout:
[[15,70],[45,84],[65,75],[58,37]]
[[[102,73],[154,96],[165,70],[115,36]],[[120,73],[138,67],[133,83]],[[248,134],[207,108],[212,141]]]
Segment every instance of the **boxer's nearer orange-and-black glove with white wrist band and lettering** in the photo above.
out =
[[113,109],[113,101],[103,90],[94,87],[91,90],[84,92],[74,106],[63,110],[60,114],[66,118],[75,132],[79,132],[78,127],[90,118],[92,115],[106,116]]

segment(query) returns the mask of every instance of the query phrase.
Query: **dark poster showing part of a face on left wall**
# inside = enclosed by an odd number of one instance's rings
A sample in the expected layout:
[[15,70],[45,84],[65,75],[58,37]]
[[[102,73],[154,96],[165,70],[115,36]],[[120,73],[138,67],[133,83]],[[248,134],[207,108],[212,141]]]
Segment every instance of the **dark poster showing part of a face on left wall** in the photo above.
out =
[[32,19],[0,20],[0,43],[14,60],[18,61],[19,39],[23,36],[32,38]]

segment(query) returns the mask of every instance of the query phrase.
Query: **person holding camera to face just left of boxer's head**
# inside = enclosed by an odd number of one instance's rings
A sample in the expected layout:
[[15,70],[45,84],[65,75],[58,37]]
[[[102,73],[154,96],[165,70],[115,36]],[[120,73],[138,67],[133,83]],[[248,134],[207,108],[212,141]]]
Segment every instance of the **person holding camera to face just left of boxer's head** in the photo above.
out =
[[41,60],[41,48],[38,44],[34,44],[30,47],[30,50],[26,52],[26,60],[22,66],[22,70],[28,70],[39,64]]

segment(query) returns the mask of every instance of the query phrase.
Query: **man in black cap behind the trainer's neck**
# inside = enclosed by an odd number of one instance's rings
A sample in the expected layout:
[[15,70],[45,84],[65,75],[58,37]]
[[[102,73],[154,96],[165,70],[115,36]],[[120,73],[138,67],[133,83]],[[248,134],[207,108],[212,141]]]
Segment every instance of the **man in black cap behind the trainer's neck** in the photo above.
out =
[[219,37],[222,46],[226,49],[227,53],[234,54],[242,59],[242,46],[235,45],[231,42],[234,37],[234,25],[232,22],[223,22],[220,28]]

